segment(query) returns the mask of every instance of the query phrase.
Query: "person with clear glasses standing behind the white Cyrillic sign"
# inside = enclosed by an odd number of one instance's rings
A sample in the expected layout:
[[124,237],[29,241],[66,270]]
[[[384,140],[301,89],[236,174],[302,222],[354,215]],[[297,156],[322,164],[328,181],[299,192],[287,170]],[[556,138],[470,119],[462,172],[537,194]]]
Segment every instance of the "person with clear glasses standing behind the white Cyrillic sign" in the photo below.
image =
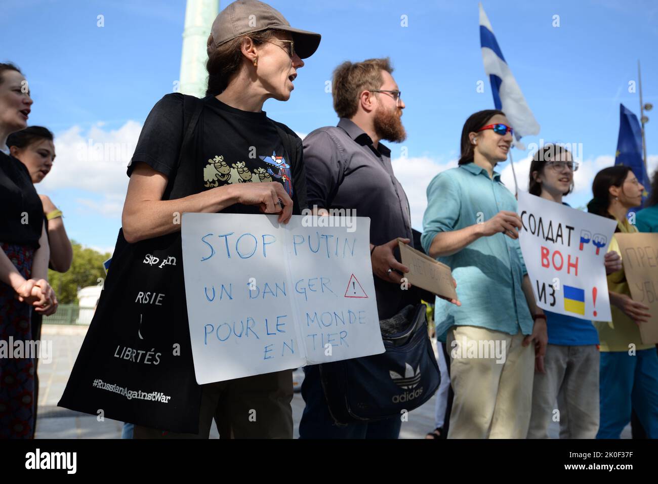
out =
[[[561,203],[573,190],[578,162],[565,147],[548,143],[530,162],[528,192]],[[622,268],[616,252],[605,254],[607,274]],[[528,439],[547,439],[559,410],[561,439],[594,439],[599,429],[599,335],[591,321],[545,311],[548,345],[537,356]]]

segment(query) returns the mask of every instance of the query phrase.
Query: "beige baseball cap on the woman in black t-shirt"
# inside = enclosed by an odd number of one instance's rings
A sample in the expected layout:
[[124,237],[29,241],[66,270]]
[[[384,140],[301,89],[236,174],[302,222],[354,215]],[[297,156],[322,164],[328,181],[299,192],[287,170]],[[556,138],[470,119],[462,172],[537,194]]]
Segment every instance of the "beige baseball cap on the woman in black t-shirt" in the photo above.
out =
[[290,32],[295,41],[295,52],[300,59],[311,57],[320,45],[320,34],[292,28],[281,12],[266,3],[237,0],[215,18],[211,28],[213,42],[208,46],[208,53],[236,37],[269,29]]

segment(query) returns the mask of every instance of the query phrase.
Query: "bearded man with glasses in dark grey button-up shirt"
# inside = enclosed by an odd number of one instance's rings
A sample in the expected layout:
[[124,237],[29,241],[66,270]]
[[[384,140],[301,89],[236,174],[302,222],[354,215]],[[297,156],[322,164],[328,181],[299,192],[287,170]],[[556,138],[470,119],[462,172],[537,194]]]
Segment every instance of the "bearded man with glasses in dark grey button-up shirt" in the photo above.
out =
[[[406,137],[401,122],[405,103],[392,71],[389,59],[347,61],[338,66],[332,82],[338,126],[318,128],[304,138],[309,206],[320,215],[327,209],[347,208],[356,210],[357,216],[370,217],[370,254],[380,320],[391,318],[408,304],[420,303],[410,285],[408,290],[401,289],[401,273],[409,268],[394,254],[397,237],[412,243],[413,233],[407,195],[393,174],[391,150],[382,143],[399,143]],[[336,425],[319,366],[306,366],[304,371],[301,395],[306,406],[299,423],[300,438],[397,439],[399,416]],[[336,369],[328,364],[324,371]]]

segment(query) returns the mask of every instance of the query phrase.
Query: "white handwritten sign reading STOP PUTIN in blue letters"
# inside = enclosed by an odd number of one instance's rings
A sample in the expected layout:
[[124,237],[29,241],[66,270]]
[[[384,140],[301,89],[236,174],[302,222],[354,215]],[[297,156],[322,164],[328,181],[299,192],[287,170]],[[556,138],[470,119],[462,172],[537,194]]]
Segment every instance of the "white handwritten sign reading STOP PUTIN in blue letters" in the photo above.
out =
[[352,231],[304,219],[183,214],[197,383],[384,352],[370,219],[355,218]]

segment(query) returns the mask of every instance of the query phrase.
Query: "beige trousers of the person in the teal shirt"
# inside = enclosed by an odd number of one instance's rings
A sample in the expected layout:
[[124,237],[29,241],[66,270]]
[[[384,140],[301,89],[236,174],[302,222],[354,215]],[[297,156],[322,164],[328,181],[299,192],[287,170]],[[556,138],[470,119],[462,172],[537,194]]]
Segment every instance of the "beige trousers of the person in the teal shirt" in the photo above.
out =
[[[525,439],[532,409],[534,345],[477,326],[447,332],[455,393],[448,439]],[[494,351],[495,349],[495,351]]]

